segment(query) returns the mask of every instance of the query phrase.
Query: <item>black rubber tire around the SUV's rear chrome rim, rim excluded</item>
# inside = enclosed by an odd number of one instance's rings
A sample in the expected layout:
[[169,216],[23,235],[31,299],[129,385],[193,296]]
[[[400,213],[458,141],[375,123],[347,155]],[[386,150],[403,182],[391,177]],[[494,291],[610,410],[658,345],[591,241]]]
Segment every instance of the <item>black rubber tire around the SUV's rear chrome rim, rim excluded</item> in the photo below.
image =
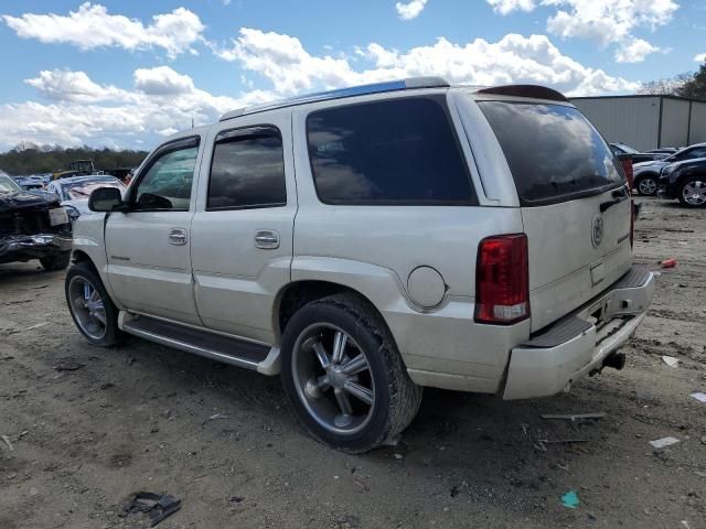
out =
[[[370,420],[357,432],[343,434],[323,428],[304,406],[307,397],[298,389],[292,367],[295,347],[302,333],[317,324],[343,331],[367,359],[367,375],[375,388],[374,404]],[[295,313],[282,335],[282,384],[304,429],[322,443],[349,453],[367,452],[396,438],[414,420],[422,395],[422,388],[407,375],[385,322],[368,302],[354,294],[323,298]]]

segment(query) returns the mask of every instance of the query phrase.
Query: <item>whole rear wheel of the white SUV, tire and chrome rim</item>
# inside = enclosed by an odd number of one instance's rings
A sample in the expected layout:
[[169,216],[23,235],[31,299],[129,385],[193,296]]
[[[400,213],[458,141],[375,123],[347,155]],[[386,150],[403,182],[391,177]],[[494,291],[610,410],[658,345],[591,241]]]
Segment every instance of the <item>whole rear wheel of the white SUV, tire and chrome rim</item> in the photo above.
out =
[[282,384],[307,431],[350,453],[397,436],[421,403],[422,388],[409,379],[384,321],[353,294],[313,301],[292,316]]

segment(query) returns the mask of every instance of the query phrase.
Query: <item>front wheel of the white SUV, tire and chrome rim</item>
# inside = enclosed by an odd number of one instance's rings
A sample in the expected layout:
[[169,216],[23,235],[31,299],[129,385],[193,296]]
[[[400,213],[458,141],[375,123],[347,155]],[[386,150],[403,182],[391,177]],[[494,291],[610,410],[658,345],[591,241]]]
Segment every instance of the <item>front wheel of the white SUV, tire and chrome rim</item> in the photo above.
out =
[[74,264],[66,273],[64,288],[68,311],[81,334],[100,347],[116,345],[121,335],[118,309],[94,268],[87,262]]

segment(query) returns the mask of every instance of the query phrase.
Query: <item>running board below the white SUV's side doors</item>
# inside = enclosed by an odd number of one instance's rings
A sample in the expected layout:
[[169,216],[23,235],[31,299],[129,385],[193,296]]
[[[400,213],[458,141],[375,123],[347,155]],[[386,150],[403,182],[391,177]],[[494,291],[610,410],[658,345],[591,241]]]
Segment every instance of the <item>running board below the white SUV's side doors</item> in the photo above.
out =
[[118,327],[133,336],[212,360],[245,367],[263,375],[279,374],[278,347],[125,311],[120,311]]

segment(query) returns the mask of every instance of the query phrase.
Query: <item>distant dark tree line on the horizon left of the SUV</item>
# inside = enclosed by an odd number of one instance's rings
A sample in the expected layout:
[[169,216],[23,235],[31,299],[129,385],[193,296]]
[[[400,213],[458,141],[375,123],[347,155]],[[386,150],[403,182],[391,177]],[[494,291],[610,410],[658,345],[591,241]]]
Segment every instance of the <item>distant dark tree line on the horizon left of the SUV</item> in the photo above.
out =
[[118,168],[137,168],[147,151],[93,149],[88,145],[63,148],[23,142],[0,153],[0,170],[13,175],[43,174],[67,170],[74,160],[93,160],[96,170],[110,172]]

